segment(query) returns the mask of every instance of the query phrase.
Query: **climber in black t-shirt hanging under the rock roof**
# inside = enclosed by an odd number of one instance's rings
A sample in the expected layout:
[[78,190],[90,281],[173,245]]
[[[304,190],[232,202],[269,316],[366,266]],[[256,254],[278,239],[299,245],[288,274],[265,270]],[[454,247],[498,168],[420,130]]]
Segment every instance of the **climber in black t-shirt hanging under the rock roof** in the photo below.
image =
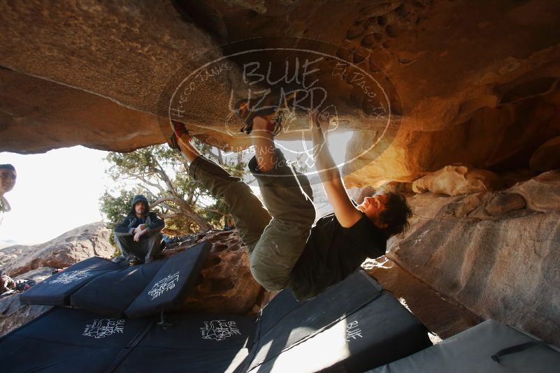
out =
[[236,105],[236,115],[245,122],[241,131],[254,145],[248,167],[259,182],[264,205],[240,178],[201,155],[183,124],[172,122],[169,145],[185,154],[191,177],[224,198],[247,245],[254,279],[269,291],[291,288],[297,299],[305,300],[345,279],[366,258],[384,255],[387,239],[405,230],[412,212],[398,193],[369,196],[355,204],[326,146],[324,124],[311,111],[315,164],[334,210],[314,224],[308,177],[289,166],[274,142],[282,126],[278,108],[293,96],[269,95],[259,108],[250,108],[247,100]]

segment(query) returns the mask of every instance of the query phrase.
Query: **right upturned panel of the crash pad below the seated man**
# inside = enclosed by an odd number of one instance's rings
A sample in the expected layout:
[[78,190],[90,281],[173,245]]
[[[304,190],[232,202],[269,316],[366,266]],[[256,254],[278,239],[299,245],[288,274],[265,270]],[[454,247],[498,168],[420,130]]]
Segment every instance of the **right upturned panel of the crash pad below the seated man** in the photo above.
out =
[[204,241],[168,258],[124,313],[134,319],[180,307],[199,279],[211,247],[211,242]]

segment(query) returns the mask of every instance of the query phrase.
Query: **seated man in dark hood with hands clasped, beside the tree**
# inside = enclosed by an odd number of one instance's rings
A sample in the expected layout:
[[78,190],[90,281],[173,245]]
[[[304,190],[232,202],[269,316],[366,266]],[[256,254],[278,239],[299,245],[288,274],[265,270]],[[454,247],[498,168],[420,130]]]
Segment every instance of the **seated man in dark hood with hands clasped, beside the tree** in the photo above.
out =
[[150,263],[161,251],[161,229],[164,221],[150,212],[148,199],[141,194],[132,199],[126,218],[115,226],[115,242],[130,265]]

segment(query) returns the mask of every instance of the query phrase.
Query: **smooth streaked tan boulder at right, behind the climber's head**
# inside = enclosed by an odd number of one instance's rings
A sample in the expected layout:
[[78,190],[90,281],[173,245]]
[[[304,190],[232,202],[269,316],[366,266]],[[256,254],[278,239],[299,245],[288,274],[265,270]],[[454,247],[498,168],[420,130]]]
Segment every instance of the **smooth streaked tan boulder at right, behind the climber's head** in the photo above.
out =
[[560,171],[498,193],[410,198],[387,256],[483,318],[560,344]]

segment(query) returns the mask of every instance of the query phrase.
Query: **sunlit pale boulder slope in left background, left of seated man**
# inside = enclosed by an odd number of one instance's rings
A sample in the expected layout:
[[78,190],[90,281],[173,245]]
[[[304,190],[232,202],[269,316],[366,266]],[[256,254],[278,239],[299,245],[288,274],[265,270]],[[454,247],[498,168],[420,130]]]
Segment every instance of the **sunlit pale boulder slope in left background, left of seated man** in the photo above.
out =
[[92,256],[110,258],[115,248],[109,244],[109,235],[99,221],[74,228],[44,244],[4,247],[0,249],[0,269],[16,277],[40,267],[66,268]]

